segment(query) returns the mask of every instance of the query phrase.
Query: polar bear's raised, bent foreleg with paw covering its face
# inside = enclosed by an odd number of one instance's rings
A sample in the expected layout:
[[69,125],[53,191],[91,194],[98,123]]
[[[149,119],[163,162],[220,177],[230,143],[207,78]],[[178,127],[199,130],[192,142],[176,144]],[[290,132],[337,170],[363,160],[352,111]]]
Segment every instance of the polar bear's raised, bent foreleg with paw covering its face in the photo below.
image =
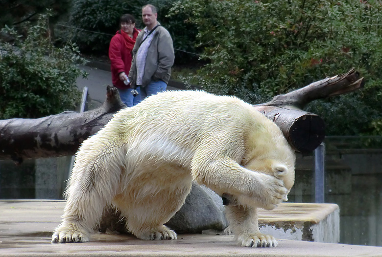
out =
[[250,171],[231,158],[203,161],[195,158],[192,176],[217,194],[232,194],[239,204],[272,210],[287,199],[284,182],[274,176]]

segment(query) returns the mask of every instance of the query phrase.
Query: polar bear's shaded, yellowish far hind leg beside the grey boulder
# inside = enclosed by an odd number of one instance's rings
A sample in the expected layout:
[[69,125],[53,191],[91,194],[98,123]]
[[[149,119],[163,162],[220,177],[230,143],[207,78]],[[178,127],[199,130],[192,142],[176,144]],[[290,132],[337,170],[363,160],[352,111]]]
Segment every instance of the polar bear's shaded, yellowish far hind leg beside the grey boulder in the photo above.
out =
[[[182,207],[191,191],[191,175],[184,176],[182,169],[156,169],[158,176],[150,172],[151,179],[140,176],[140,186],[132,186],[128,194],[118,195],[113,203],[126,217],[129,232],[143,240],[176,239],[176,233],[164,224]],[[160,170],[160,171],[159,171]],[[151,170],[152,171],[152,170]],[[184,174],[184,173],[183,173]],[[161,176],[161,177],[160,177]],[[162,183],[167,180],[166,183]],[[129,203],[126,205],[126,203]]]

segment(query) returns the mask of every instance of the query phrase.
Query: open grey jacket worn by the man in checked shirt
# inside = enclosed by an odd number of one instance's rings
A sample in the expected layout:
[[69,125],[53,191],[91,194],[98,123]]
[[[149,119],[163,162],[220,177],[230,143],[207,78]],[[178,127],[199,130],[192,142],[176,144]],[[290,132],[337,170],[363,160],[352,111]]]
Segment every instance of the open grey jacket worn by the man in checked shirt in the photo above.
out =
[[[159,22],[157,24],[160,25]],[[174,48],[172,46],[170,33],[162,26],[158,26],[153,33],[154,36],[147,51],[142,87],[147,86],[150,81],[158,80],[162,80],[167,84],[170,79],[172,64],[174,64]],[[144,30],[138,34],[137,41],[133,48],[133,61],[129,72],[131,87],[136,87],[137,83],[136,59],[140,43],[143,40],[143,35]]]

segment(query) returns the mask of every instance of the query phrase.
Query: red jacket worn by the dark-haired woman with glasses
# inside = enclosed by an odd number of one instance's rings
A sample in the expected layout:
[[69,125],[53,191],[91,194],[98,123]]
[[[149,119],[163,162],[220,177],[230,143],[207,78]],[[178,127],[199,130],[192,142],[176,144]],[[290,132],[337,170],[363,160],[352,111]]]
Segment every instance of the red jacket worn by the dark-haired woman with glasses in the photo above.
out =
[[[134,28],[134,34],[139,33],[140,30]],[[129,88],[123,81],[119,79],[119,73],[125,72],[129,75],[132,57],[132,51],[125,47],[124,38],[120,34],[120,30],[113,36],[109,45],[109,59],[111,62],[111,73],[113,85],[125,89]]]

